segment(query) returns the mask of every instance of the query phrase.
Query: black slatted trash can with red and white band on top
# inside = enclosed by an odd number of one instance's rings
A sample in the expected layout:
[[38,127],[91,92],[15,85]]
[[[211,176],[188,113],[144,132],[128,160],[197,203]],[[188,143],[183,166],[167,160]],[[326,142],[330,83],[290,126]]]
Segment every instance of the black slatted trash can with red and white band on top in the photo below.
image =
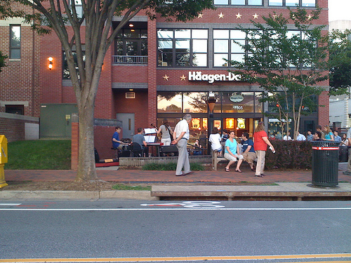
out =
[[312,142],[312,184],[319,187],[338,185],[338,142]]

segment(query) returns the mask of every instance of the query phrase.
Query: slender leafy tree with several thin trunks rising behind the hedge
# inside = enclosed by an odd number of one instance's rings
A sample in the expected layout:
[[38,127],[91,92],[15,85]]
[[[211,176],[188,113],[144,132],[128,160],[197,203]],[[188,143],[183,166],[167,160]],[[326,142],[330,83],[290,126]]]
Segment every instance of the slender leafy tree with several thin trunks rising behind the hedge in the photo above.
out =
[[[246,52],[244,61],[231,61],[244,81],[256,83],[263,88],[262,102],[277,105],[272,112],[278,113],[286,130],[289,119],[293,118],[296,139],[300,126],[300,116],[310,114],[317,104],[313,95],[322,93],[317,83],[328,78],[325,73],[327,46],[322,43],[322,28],[312,25],[318,19],[320,8],[310,15],[303,8],[291,11],[289,18],[269,15],[263,17],[265,24],[253,22],[253,28],[244,29],[246,43],[235,41]],[[289,19],[295,31],[289,29]]]

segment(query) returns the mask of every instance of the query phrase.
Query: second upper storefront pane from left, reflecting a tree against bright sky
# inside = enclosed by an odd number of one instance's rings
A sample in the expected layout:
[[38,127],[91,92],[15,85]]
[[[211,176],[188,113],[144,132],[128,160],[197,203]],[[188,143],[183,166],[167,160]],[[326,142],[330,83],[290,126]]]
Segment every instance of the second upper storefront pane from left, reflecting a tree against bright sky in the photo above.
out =
[[207,112],[207,93],[184,93],[183,96],[184,113]]

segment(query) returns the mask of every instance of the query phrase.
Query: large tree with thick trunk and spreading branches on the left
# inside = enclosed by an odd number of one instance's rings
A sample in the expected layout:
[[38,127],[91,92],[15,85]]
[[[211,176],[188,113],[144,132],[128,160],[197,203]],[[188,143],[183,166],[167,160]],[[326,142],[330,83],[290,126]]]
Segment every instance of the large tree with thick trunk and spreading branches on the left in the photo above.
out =
[[[8,11],[11,4],[18,6],[18,3],[29,6],[36,12],[26,13],[18,9]],[[25,21],[41,34],[49,33],[53,29],[61,41],[79,113],[79,160],[76,180],[88,181],[98,179],[93,154],[95,97],[102,63],[117,33],[140,11],[145,11],[151,19],[159,14],[168,21],[187,21],[197,18],[203,9],[214,7],[212,0],[81,0],[80,16],[76,3],[77,1],[72,0],[0,0],[0,6],[5,7],[6,15],[25,18]],[[114,16],[121,17],[121,22],[116,28],[111,27]],[[82,35],[85,35],[85,39],[82,39]],[[73,47],[76,48],[75,51]],[[77,65],[74,52],[77,55]]]

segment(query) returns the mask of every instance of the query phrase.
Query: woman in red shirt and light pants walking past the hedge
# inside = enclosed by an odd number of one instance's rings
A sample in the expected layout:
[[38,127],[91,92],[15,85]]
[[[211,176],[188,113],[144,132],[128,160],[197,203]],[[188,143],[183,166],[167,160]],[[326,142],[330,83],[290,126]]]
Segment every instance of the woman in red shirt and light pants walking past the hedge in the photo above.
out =
[[263,177],[263,170],[265,169],[265,152],[267,151],[267,145],[272,147],[272,151],[275,149],[273,145],[267,138],[267,133],[265,130],[265,124],[263,121],[258,123],[258,126],[255,129],[255,133],[253,133],[253,148],[256,151],[257,155],[257,165],[256,165],[256,177]]

